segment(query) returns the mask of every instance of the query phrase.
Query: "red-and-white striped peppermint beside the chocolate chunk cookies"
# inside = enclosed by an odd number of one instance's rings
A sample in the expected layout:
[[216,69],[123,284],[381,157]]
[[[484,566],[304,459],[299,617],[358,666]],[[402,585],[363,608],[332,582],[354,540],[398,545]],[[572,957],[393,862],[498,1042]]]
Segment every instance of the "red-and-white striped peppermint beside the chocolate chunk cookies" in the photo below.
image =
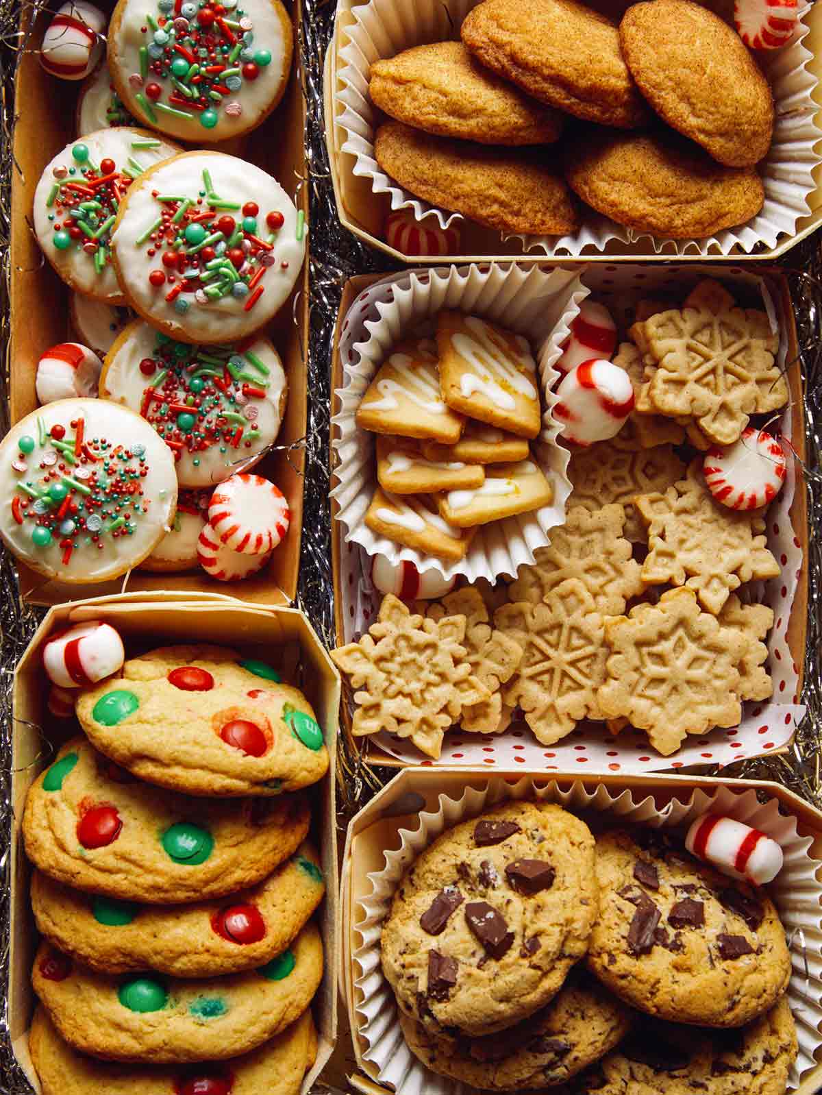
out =
[[731,878],[764,886],[782,871],[783,851],[759,829],[719,814],[703,814],[691,826],[685,848]]

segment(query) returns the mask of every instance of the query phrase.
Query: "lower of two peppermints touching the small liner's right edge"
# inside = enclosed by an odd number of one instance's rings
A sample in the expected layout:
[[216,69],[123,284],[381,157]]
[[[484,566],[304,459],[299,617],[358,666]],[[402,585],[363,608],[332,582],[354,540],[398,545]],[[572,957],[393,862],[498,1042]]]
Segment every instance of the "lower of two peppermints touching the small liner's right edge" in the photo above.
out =
[[561,436],[582,447],[615,437],[634,410],[630,377],[611,361],[583,361],[563,378],[556,394]]

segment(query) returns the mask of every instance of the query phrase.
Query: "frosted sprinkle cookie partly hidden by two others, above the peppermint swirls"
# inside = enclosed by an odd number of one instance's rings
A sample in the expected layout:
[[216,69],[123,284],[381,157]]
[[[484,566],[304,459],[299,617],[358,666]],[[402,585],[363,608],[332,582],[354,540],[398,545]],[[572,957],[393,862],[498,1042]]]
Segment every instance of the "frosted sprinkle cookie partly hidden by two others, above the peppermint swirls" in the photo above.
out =
[[140,320],[114,343],[100,379],[103,399],[142,415],[174,450],[186,487],[213,486],[238,465],[252,466],[277,438],[288,392],[267,338],[193,346]]

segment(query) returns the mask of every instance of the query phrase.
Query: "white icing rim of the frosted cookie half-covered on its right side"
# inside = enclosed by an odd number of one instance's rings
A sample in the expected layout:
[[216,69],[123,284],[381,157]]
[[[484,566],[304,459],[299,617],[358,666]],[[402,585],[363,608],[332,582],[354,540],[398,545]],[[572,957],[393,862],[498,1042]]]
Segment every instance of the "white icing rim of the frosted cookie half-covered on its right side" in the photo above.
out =
[[[128,164],[129,157],[144,170],[153,163],[167,160],[170,155],[175,155],[180,151],[175,145],[162,139],[158,148],[136,149],[131,147],[134,140],[147,139],[158,140],[159,138],[157,134],[148,132],[144,129],[130,129],[126,126],[115,129],[100,129],[97,132],[88,134],[82,141],[71,141],[70,145],[67,145],[46,165],[46,170],[37,183],[37,189],[34,192],[34,231],[46,257],[63,281],[68,281],[72,288],[79,289],[96,300],[117,303],[123,300],[123,292],[117,284],[111,261],[106,263],[102,273],[97,274],[94,268],[94,258],[83,251],[82,241],[72,241],[67,251],[58,251],[54,245],[55,221],[50,221],[48,217],[55,212],[55,209],[46,205],[51,187],[58,182],[55,178],[54,169],[78,166],[71,155],[71,149],[78,143],[86,146],[89,158],[96,168],[100,166],[102,160],[109,159],[114,160],[118,170]],[[79,183],[82,182],[82,177],[79,171],[74,175],[66,175],[66,180],[73,178]],[[57,223],[60,221],[58,220]]]

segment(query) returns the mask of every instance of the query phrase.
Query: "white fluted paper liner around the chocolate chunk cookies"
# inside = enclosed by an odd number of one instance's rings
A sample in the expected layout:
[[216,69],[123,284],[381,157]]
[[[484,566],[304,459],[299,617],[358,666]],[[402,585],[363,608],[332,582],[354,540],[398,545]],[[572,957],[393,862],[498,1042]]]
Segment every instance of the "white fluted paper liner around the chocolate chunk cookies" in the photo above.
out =
[[[685,798],[686,793],[679,794]],[[822,884],[817,879],[821,861],[810,855],[812,840],[799,835],[796,818],[780,814],[775,798],[761,803],[753,789],[734,794],[728,787],[710,793],[697,788],[684,802],[673,799],[658,809],[650,795],[640,798],[628,789],[612,794],[600,785],[589,792],[581,783],[574,783],[563,791],[556,783],[535,785],[528,779],[510,783],[502,777],[489,780],[482,789],[467,787],[459,799],[440,795],[439,809],[420,812],[417,829],[401,829],[400,848],[386,851],[384,869],[368,876],[372,890],[359,902],[362,919],[355,930],[359,945],[352,950],[358,990],[355,1035],[364,1040],[362,1056],[379,1070],[378,1081],[391,1084],[396,1095],[461,1095],[465,1091],[463,1084],[427,1069],[406,1046],[394,993],[380,964],[380,936],[394,891],[420,852],[445,829],[509,798],[557,803],[577,812],[593,810],[607,815],[614,825],[675,826],[683,830],[701,814],[711,810],[744,821],[782,845],[785,864],[768,892],[779,911],[792,959],[788,1002],[797,1026],[799,1057],[788,1086],[797,1087],[802,1074],[815,1065],[814,1053],[822,1048],[817,1029],[822,1022]]]

